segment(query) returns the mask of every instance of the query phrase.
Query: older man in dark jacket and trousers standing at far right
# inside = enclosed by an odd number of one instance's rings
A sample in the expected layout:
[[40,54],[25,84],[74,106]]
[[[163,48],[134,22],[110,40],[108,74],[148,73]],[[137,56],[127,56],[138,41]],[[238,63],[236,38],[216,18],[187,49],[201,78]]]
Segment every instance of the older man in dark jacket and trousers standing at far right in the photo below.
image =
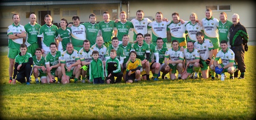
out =
[[[245,72],[245,63],[244,63],[244,51],[248,50],[247,42],[248,42],[248,34],[246,32],[246,28],[240,24],[239,15],[232,15],[232,23],[230,27],[230,37],[229,42],[231,45],[231,50],[235,52],[235,60],[238,64],[238,69],[241,72],[239,79],[244,78]],[[234,77],[238,77],[238,70],[234,73]]]

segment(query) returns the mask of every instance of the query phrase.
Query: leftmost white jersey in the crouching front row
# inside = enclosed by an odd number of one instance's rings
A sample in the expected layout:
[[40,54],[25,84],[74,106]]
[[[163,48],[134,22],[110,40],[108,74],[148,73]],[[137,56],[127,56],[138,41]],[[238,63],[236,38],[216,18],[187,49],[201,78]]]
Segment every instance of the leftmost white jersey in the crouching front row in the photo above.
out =
[[[63,51],[61,54],[61,63],[65,63],[65,67],[69,67],[71,64],[74,64],[77,60],[79,60],[78,51],[74,50],[72,54],[68,54],[67,50]],[[75,66],[71,69],[73,70]]]

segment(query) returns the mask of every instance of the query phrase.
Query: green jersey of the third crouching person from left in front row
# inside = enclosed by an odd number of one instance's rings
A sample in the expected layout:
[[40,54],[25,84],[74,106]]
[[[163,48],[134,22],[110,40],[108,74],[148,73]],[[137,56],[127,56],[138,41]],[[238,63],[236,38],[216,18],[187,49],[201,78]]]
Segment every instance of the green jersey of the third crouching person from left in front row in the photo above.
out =
[[[56,54],[53,56],[51,52],[49,52],[45,57],[45,64],[50,64],[50,66],[56,65],[59,63],[59,59],[61,58],[61,52],[56,51]],[[53,68],[52,70],[55,70]]]

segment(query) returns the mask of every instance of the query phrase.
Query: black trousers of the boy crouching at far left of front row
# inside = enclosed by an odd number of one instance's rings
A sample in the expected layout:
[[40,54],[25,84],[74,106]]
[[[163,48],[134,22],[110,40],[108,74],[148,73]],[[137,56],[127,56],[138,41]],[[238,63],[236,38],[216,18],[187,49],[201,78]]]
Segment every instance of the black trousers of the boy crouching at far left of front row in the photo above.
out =
[[25,77],[27,78],[27,82],[30,82],[30,76],[32,75],[32,67],[30,64],[27,64],[25,67],[20,69],[17,73],[17,78],[16,80],[24,83],[26,82]]

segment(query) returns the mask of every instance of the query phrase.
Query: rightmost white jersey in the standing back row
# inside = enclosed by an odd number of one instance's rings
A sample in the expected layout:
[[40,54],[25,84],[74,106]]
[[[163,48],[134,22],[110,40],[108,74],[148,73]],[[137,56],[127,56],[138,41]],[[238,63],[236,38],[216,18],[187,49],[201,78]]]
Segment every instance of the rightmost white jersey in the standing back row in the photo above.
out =
[[211,19],[202,19],[202,27],[204,34],[207,37],[210,38],[218,38],[219,33],[218,33],[218,26],[219,26],[219,20],[216,18],[211,18]]

